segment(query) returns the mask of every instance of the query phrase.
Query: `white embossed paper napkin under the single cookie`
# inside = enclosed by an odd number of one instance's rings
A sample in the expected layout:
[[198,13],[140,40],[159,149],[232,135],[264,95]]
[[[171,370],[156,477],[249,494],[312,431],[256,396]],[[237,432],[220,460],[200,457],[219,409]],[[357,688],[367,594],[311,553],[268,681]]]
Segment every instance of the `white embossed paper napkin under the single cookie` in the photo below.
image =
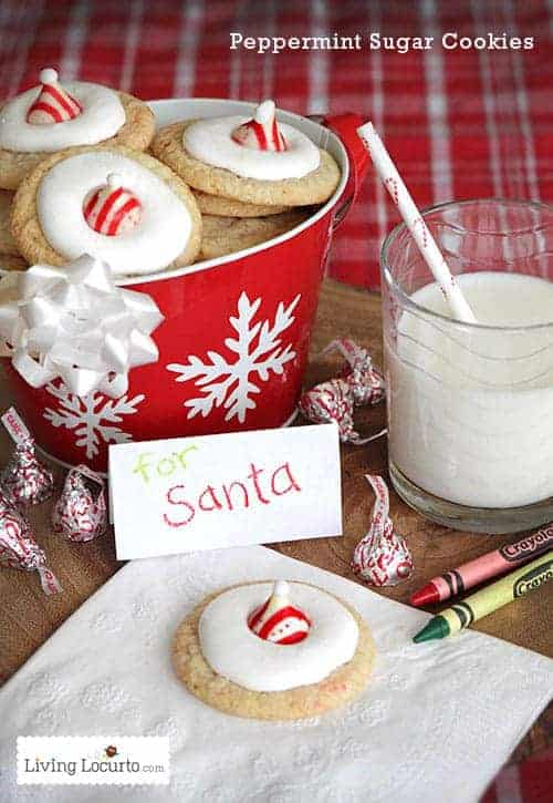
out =
[[[174,677],[180,619],[219,587],[268,578],[315,583],[366,618],[378,659],[357,702],[303,722],[241,720]],[[0,800],[477,801],[551,699],[553,661],[478,632],[411,644],[427,618],[259,546],[131,563],[0,693]],[[169,735],[171,783],[18,787],[18,734]]]

